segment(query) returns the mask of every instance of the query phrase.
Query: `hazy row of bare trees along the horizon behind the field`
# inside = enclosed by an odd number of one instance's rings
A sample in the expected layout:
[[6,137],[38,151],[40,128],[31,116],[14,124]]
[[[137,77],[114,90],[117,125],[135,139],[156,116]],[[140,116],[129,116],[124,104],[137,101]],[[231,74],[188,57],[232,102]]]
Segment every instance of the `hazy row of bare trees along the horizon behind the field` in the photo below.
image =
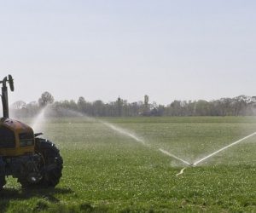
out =
[[[65,112],[79,112],[92,117],[137,117],[137,116],[251,116],[256,112],[256,96],[240,95],[213,101],[172,101],[169,105],[149,103],[148,95],[143,101],[131,102],[118,97],[116,101],[101,100],[54,101],[53,95],[44,92],[38,101],[16,101],[11,105],[17,117],[33,117],[45,106],[50,107],[50,116],[65,116]],[[69,113],[72,114],[72,113]]]

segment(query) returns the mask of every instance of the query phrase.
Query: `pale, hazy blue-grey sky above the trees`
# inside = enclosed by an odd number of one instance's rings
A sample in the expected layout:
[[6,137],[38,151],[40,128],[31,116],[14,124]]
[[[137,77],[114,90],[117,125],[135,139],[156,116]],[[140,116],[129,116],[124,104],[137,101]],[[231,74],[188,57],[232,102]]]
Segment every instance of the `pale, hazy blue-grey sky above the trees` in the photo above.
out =
[[0,0],[10,103],[256,95],[256,1]]

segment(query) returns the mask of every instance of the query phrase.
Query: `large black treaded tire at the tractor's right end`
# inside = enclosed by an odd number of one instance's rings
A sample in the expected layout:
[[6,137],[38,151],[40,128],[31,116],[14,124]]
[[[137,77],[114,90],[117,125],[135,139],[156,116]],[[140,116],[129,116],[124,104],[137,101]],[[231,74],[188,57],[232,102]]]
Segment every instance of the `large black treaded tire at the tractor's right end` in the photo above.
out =
[[36,138],[35,153],[42,158],[40,164],[42,179],[36,183],[27,181],[26,178],[18,178],[22,187],[55,187],[62,176],[63,160],[60,151],[55,144],[42,138]]

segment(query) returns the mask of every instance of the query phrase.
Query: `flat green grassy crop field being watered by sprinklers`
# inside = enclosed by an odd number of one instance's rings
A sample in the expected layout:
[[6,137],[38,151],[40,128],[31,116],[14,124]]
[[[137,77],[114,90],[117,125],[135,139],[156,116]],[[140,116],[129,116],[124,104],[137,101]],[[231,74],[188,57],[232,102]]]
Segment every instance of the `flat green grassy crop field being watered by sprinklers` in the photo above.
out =
[[[64,160],[55,189],[12,177],[0,212],[256,212],[253,117],[55,118],[40,124]],[[183,174],[177,176],[184,167]]]

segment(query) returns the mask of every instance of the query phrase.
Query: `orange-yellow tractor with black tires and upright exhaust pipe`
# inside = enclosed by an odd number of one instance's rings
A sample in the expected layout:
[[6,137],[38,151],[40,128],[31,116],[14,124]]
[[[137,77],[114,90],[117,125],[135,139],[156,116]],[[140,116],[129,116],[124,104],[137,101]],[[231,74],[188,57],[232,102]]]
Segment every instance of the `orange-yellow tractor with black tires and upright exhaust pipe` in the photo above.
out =
[[61,178],[63,160],[51,141],[38,137],[32,128],[9,118],[8,84],[14,91],[11,75],[2,84],[3,118],[0,118],[0,190],[6,176],[13,176],[22,188],[55,187]]

